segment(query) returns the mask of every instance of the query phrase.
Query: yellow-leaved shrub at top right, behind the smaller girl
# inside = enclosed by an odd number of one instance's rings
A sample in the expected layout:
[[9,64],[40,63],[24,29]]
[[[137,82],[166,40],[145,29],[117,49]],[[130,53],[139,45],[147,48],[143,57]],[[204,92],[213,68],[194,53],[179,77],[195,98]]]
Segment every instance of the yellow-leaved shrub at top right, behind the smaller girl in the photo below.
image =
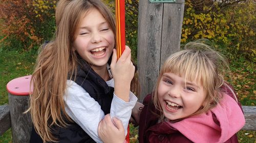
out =
[[207,38],[220,42],[232,53],[255,54],[255,7],[253,1],[219,3],[185,2],[181,42]]

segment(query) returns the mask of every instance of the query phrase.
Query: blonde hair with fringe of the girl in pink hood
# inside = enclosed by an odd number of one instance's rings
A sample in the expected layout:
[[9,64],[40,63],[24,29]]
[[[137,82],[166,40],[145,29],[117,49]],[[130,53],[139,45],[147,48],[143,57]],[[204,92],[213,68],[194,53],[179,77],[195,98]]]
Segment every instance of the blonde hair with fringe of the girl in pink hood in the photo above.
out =
[[[189,81],[201,81],[206,91],[205,105],[190,116],[208,111],[216,106],[222,98],[221,87],[224,84],[223,69],[224,67],[228,68],[224,56],[213,50],[209,45],[204,44],[202,40],[189,42],[184,48],[184,50],[176,52],[167,58],[157,79],[153,102],[160,111],[159,116],[162,120],[163,112],[158,100],[157,91],[164,73],[174,73],[179,76],[184,76],[185,79]],[[182,119],[177,121],[180,120]]]

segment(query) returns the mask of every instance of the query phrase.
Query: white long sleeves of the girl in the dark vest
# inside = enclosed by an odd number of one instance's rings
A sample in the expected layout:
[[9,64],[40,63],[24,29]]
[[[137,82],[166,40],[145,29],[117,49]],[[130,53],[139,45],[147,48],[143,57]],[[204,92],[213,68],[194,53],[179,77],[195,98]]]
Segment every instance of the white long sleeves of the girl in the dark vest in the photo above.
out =
[[[80,87],[80,85],[72,80],[68,80],[67,82],[68,88],[66,94],[64,95],[65,110],[67,114],[96,142],[102,142],[98,136],[97,129],[99,122],[104,118],[105,115],[101,110],[100,105],[89,95],[89,93]],[[134,97],[132,97],[132,99],[134,100]],[[135,99],[137,101],[137,97],[135,97]],[[115,95],[112,100],[110,112],[111,117],[120,119],[124,125],[124,128],[126,126],[126,132],[127,125],[131,117],[132,108],[134,107],[136,101],[124,102]],[[122,113],[119,113],[118,110],[122,110]],[[130,115],[124,115],[124,113],[130,113]]]

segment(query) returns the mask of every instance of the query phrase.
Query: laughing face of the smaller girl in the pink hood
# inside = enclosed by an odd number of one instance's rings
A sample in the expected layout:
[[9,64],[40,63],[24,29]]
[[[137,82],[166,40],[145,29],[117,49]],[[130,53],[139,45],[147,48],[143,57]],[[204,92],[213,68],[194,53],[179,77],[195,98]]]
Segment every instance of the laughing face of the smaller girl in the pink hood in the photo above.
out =
[[204,105],[206,92],[199,81],[164,73],[158,85],[158,99],[164,117],[177,120],[188,117]]

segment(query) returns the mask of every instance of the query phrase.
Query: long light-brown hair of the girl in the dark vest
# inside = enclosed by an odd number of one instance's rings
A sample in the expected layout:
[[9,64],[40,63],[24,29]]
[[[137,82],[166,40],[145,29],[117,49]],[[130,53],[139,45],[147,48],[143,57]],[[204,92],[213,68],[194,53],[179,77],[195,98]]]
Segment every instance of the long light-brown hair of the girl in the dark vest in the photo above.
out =
[[74,79],[72,76],[76,73],[77,54],[73,42],[77,28],[91,9],[97,9],[115,33],[113,14],[100,0],[60,0],[56,7],[55,39],[40,48],[31,79],[33,94],[29,111],[34,128],[44,142],[57,142],[53,126],[66,127],[67,120],[72,122],[65,112],[63,94],[67,79]]

